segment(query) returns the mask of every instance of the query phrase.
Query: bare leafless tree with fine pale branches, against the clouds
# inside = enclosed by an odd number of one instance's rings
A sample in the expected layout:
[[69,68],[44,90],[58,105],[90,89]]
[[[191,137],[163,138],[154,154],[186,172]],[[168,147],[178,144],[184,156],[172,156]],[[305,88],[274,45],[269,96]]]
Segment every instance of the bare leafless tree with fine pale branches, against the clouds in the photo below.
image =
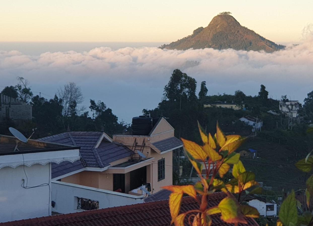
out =
[[[77,105],[81,104],[84,100],[80,87],[76,86],[74,82],[65,84],[64,88],[58,90],[58,92],[60,99],[62,99],[62,114],[64,117],[73,113],[71,111],[73,111],[74,105],[74,109],[76,109]],[[80,111],[83,111],[83,108]]]

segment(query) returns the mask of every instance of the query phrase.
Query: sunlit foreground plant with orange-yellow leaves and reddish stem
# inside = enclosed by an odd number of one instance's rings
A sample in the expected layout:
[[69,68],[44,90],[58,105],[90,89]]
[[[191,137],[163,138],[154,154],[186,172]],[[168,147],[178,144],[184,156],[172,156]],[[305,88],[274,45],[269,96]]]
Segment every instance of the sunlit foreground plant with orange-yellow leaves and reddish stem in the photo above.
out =
[[[255,181],[254,173],[245,170],[244,165],[239,160],[240,154],[234,152],[245,139],[239,135],[224,135],[218,124],[214,137],[210,133],[206,134],[199,123],[198,127],[203,145],[185,139],[182,139],[182,142],[189,161],[199,174],[200,181],[195,185],[163,187],[172,191],[169,198],[171,224],[184,225],[185,218],[188,217],[190,225],[207,226],[211,225],[210,215],[213,214],[221,214],[221,219],[224,222],[235,225],[238,223],[247,224],[245,217],[258,218],[257,209],[239,203],[241,194],[246,189],[258,184]],[[217,177],[223,178],[231,165],[233,165],[233,178],[225,184]],[[204,177],[202,175],[204,174],[203,170],[205,171]],[[221,200],[217,206],[208,208],[208,196],[215,191],[223,191],[227,197]],[[236,194],[237,198],[232,193]],[[250,192],[250,194],[252,193],[253,191]],[[200,205],[199,209],[179,214],[183,194],[196,199]],[[197,194],[199,195],[197,196]]]

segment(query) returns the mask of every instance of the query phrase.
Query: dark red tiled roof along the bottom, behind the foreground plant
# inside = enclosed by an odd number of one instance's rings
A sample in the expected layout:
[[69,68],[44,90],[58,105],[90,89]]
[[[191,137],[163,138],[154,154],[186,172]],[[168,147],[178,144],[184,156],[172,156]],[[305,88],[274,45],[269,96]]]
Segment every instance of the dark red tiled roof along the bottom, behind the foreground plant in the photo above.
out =
[[[216,206],[226,194],[217,192],[209,196],[208,206]],[[201,197],[198,196],[200,200]],[[181,211],[186,212],[198,209],[198,202],[192,197],[182,199]],[[185,225],[187,224],[185,218]],[[252,218],[246,218],[248,224],[238,224],[241,226],[258,226]],[[2,223],[0,226],[168,226],[171,222],[171,215],[168,201],[155,201],[106,209],[89,210],[74,214],[61,214],[49,217],[41,217],[27,220],[12,221]],[[219,214],[212,215],[212,225],[233,225],[226,224],[220,219]]]

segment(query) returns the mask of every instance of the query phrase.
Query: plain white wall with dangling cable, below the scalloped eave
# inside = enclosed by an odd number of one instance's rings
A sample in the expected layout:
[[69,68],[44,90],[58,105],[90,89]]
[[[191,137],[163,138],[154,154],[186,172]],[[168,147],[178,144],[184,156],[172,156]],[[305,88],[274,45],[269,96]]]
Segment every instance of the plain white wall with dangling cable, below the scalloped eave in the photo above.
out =
[[[49,183],[50,164],[25,166],[28,187]],[[0,169],[0,222],[49,216],[51,199],[49,186],[25,189],[21,187],[26,176],[23,166]],[[51,184],[50,184],[51,186]],[[50,200],[49,200],[50,199]]]

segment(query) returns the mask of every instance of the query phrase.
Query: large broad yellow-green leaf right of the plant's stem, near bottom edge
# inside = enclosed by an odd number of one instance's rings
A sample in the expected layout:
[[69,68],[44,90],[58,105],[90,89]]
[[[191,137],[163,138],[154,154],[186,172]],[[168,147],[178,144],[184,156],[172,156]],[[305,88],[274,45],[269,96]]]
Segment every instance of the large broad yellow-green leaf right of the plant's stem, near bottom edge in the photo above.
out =
[[221,219],[226,223],[244,223],[247,221],[239,211],[239,204],[233,197],[226,197],[218,204],[218,209],[221,211]]

